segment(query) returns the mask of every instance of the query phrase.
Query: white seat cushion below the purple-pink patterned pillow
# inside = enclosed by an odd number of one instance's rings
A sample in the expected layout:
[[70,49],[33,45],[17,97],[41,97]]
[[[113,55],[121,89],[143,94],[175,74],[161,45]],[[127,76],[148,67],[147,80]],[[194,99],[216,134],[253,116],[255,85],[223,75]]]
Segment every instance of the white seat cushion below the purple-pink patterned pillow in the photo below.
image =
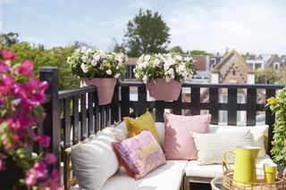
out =
[[[167,161],[144,178],[130,178],[122,167],[108,178],[101,190],[140,189],[140,190],[180,190],[181,181],[188,161]],[[76,190],[79,188],[71,188]]]

